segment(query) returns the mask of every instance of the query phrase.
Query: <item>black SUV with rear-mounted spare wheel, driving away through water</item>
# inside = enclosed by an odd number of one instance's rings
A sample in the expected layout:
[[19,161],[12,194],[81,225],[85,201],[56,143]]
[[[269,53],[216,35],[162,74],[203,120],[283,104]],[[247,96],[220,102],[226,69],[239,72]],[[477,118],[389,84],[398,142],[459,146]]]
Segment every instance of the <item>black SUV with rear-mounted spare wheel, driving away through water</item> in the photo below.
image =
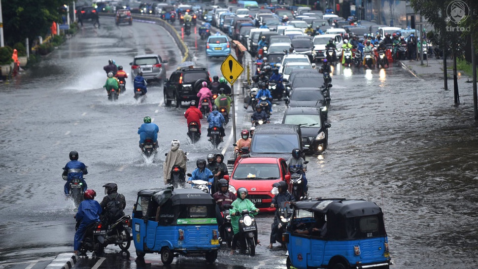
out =
[[174,101],[175,106],[179,107],[183,101],[197,100],[203,81],[207,84],[211,82],[207,68],[183,67],[175,70],[170,78],[165,80],[164,103],[169,106],[171,101]]

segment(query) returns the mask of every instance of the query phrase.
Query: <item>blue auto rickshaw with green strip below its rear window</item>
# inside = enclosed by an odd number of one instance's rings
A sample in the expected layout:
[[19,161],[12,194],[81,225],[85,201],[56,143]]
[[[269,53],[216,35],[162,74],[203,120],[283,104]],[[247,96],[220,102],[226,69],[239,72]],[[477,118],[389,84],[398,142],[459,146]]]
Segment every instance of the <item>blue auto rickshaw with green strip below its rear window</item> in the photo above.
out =
[[165,265],[174,257],[203,256],[213,263],[219,249],[214,199],[199,189],[147,189],[137,195],[132,216],[138,257],[160,253]]

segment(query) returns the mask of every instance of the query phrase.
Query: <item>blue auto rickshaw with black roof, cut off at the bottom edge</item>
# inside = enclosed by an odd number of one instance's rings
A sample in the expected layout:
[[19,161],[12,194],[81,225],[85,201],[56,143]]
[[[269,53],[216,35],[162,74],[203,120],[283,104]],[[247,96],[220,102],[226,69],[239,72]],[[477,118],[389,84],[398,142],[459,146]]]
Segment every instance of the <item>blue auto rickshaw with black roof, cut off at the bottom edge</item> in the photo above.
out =
[[376,203],[320,199],[291,206],[294,213],[282,234],[288,269],[388,269],[392,264]]

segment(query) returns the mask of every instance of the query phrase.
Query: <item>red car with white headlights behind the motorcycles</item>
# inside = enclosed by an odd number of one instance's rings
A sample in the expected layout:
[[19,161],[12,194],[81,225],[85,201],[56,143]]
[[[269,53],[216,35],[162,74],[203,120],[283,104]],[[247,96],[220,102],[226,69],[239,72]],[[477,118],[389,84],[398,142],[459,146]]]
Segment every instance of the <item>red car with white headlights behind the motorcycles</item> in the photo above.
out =
[[237,189],[244,187],[248,196],[261,212],[273,212],[271,202],[274,195],[271,193],[272,184],[285,180],[290,182],[290,173],[285,160],[273,157],[249,157],[240,159],[231,176],[225,175],[229,180],[229,190],[237,193]]

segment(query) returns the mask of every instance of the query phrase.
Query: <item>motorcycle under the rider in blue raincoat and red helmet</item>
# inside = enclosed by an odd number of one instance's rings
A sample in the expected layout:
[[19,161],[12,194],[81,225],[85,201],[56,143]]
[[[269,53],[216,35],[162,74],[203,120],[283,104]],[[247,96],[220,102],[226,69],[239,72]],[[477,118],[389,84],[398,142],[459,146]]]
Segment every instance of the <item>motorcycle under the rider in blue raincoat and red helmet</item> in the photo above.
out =
[[[76,230],[80,222],[76,222]],[[83,239],[80,242],[78,249],[80,255],[86,256],[86,252],[95,252],[96,255],[100,255],[104,250],[106,230],[101,222],[94,222],[86,227]]]

